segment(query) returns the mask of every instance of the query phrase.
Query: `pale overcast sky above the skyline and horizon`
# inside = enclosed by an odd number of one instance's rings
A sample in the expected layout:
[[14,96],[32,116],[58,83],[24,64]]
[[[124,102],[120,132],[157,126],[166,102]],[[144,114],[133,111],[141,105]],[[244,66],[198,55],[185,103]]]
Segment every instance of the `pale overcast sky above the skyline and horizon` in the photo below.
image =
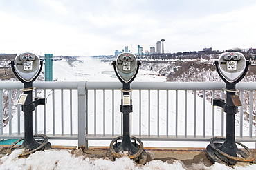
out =
[[255,0],[0,0],[0,53],[256,48]]

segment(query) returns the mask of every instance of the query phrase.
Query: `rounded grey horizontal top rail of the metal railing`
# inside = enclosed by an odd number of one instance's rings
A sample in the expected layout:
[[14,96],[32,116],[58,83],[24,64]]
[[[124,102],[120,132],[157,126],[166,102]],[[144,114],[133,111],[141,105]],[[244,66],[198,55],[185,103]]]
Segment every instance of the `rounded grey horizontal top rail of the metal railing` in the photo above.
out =
[[[77,89],[79,83],[84,83],[86,89],[121,89],[119,81],[36,81],[37,89]],[[132,89],[152,90],[221,90],[226,85],[223,82],[133,82]],[[19,81],[1,81],[0,89],[22,89]],[[256,90],[256,82],[237,83],[239,90]]]

